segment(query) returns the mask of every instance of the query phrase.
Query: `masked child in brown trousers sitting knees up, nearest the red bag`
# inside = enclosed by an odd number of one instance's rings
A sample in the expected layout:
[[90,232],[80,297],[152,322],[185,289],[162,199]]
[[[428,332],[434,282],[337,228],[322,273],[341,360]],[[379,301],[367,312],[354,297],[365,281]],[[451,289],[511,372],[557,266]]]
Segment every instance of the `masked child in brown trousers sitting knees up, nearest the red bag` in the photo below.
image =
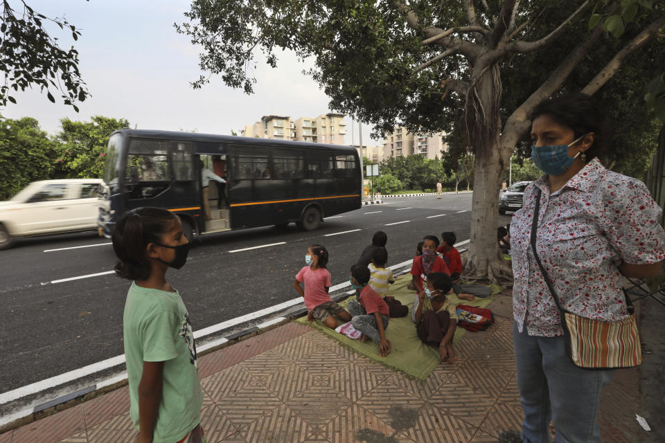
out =
[[450,291],[450,277],[443,272],[427,275],[424,290],[414,300],[412,319],[420,341],[438,348],[441,361],[456,360],[452,336],[457,324],[456,307],[445,294]]

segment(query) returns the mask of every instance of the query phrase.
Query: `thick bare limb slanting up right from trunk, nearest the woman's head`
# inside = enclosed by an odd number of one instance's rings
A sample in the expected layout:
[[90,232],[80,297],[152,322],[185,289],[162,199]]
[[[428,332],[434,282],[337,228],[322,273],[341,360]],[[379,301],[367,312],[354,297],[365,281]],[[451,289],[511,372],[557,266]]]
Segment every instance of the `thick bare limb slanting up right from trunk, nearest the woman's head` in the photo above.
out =
[[515,146],[517,141],[520,139],[524,131],[529,129],[531,122],[529,121],[529,115],[531,111],[542,102],[542,100],[550,97],[557,89],[561,87],[561,84],[566,80],[568,75],[575,69],[575,66],[585,57],[589,50],[598,42],[598,39],[603,35],[603,26],[596,26],[592,33],[587,35],[587,37],[580,42],[576,48],[574,48],[567,57],[559,64],[559,66],[549,75],[549,78],[545,80],[538,89],[536,89],[529,98],[524,100],[522,105],[513,111],[508,120],[506,120],[506,125],[501,135],[501,145],[504,146]]

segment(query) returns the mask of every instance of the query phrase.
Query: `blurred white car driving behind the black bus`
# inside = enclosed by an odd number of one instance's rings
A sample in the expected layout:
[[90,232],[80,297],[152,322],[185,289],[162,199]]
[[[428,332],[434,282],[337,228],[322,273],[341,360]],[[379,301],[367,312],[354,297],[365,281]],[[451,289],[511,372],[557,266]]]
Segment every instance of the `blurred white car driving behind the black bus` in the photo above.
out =
[[97,192],[102,179],[42,180],[9,201],[0,201],[0,249],[16,237],[97,227]]

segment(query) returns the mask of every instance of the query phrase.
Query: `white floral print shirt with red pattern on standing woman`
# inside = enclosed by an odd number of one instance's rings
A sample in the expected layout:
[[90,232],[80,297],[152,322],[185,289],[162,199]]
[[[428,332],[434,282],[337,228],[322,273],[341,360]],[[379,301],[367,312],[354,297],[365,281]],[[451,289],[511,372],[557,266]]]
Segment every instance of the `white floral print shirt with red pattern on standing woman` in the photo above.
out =
[[566,185],[549,193],[547,175],[524,192],[524,207],[511,221],[513,317],[531,336],[563,334],[559,311],[531,251],[531,223],[538,188],[536,247],[562,307],[604,321],[626,318],[617,266],[653,264],[665,258],[662,210],[644,183],[589,161]]

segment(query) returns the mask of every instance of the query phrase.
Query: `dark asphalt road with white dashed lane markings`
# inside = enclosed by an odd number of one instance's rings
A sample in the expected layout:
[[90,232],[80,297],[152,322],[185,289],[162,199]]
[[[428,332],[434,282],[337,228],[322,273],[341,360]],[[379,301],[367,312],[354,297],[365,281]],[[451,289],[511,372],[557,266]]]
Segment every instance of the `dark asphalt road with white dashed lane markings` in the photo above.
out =
[[[468,239],[470,208],[470,194],[404,197],[330,217],[312,232],[290,225],[209,235],[167,278],[195,330],[202,329],[295,298],[294,275],[311,244],[328,248],[338,284],[348,280],[376,230],[388,234],[395,264],[413,257],[423,235],[453,230],[458,242]],[[499,216],[501,224],[509,220]],[[275,245],[253,248],[267,244]],[[244,248],[252,249],[237,251]],[[24,239],[0,257],[1,392],[123,354],[130,283],[110,273],[115,257],[108,239],[94,233]],[[81,276],[87,277],[70,280]]]

